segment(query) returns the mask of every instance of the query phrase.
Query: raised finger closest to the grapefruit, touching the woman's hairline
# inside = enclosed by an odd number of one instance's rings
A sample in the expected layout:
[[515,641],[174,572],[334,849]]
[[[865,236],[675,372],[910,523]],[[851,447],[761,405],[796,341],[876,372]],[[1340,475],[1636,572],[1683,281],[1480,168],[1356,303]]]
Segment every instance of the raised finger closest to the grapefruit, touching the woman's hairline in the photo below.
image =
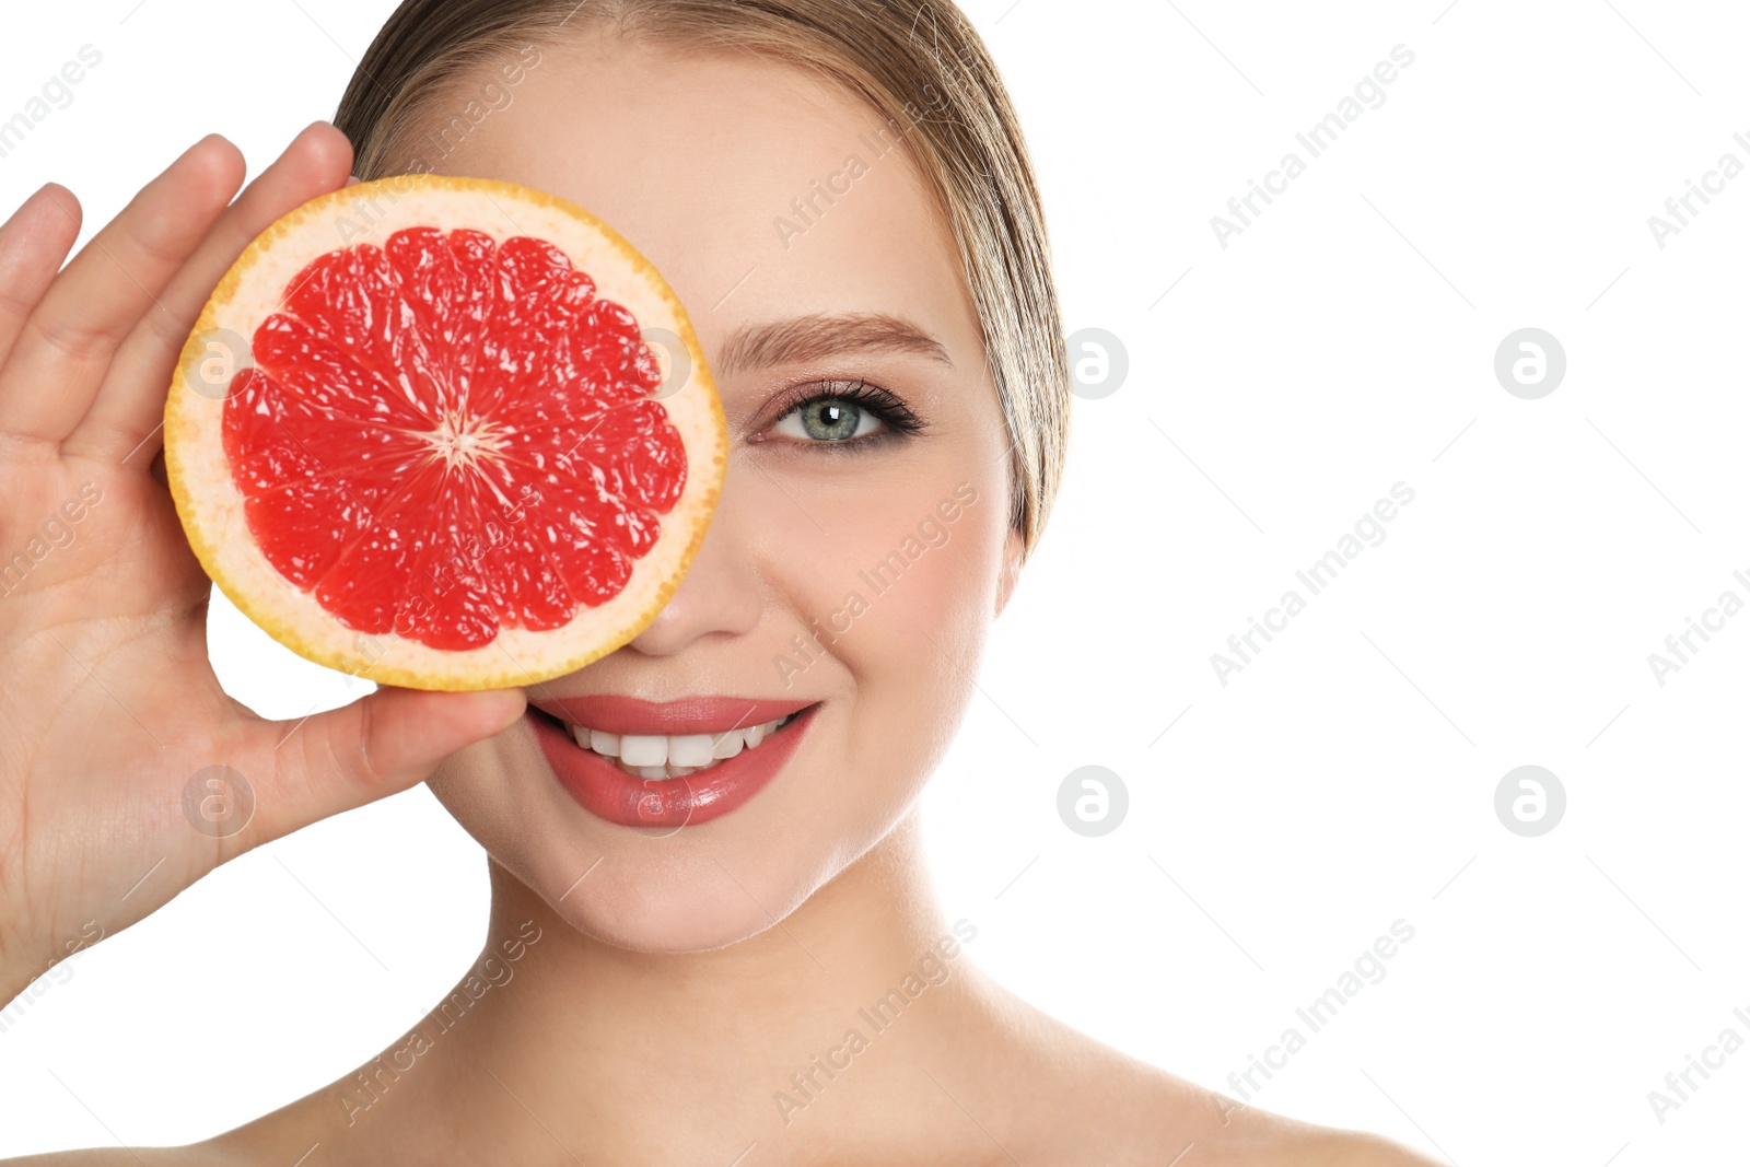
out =
[[96,401],[63,450],[147,465],[161,441],[158,427],[177,360],[214,287],[257,234],[294,206],[340,187],[348,166],[352,143],[334,126],[313,122],[292,138],[170,280],[158,297],[161,310],[147,313],[117,350]]

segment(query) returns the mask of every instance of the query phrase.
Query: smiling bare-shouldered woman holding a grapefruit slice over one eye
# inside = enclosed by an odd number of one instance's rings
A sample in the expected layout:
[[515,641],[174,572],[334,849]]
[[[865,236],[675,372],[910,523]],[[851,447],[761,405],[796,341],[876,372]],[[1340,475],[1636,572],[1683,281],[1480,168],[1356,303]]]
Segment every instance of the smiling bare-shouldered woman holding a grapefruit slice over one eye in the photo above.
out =
[[[1068,425],[1031,166],[952,3],[408,0],[336,121],[229,206],[243,163],[200,142],[60,275],[70,192],[0,229],[0,497],[14,528],[100,499],[0,611],[32,677],[7,695],[0,996],[91,922],[420,780],[492,857],[490,934],[331,1087],[198,1146],[40,1162],[1430,1162],[1059,1025],[934,906],[914,807]],[[691,308],[733,453],[681,590],[618,653],[528,693],[382,689],[282,751],[206,663],[156,425],[231,259],[350,170],[506,178],[614,224]],[[947,537],[824,628],[926,521]],[[614,815],[558,777],[626,737],[749,728],[780,765],[709,821]],[[257,798],[228,838],[180,810],[215,761]]]

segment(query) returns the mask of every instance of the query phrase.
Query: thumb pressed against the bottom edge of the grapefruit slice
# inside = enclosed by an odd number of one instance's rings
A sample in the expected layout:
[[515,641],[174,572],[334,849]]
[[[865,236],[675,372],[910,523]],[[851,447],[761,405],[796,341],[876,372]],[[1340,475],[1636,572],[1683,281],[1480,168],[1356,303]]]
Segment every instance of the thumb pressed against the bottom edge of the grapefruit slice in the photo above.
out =
[[280,738],[290,726],[268,726],[280,744],[271,751],[271,772],[256,780],[256,817],[243,833],[245,845],[416,786],[464,745],[516,724],[525,709],[522,689],[427,693],[383,686],[310,717],[290,737]]

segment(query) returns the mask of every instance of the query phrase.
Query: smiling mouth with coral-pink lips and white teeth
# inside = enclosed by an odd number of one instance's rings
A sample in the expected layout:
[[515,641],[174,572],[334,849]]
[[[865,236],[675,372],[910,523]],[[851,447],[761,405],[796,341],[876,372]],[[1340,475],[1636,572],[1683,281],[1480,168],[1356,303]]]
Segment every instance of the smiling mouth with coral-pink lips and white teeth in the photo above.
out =
[[590,696],[536,702],[528,721],[553,775],[584,810],[620,826],[679,828],[718,819],[765,789],[819,707]]

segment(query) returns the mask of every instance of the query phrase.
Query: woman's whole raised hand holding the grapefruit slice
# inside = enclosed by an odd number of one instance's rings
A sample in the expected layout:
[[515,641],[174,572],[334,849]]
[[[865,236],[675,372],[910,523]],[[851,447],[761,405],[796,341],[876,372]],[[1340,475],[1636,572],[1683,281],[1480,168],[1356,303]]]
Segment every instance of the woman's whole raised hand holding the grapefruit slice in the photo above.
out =
[[415,786],[523,712],[516,689],[383,688],[298,726],[229,698],[206,660],[212,584],[158,460],[166,387],[243,247],[350,166],[317,122],[231,203],[243,157],[212,135],[65,269],[70,191],[0,226],[0,1006],[220,863]]

